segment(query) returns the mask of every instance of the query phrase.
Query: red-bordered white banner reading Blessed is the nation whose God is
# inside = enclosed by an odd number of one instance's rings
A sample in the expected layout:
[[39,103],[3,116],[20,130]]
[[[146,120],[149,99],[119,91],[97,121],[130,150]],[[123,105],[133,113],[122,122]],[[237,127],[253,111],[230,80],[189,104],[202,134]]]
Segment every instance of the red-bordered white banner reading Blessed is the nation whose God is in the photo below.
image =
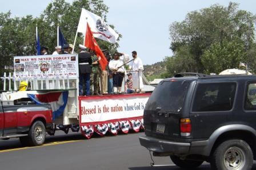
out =
[[80,126],[140,119],[150,94],[79,97]]

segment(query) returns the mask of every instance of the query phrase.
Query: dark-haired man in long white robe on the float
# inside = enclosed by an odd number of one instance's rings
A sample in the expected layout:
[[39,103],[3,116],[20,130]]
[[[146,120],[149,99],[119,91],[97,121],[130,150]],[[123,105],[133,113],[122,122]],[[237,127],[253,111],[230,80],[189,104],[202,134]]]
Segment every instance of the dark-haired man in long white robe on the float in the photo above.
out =
[[129,68],[131,69],[131,73],[133,74],[133,88],[135,91],[143,88],[143,81],[142,81],[142,71],[144,70],[142,60],[137,56],[137,52],[131,52],[133,55],[133,61],[129,64]]

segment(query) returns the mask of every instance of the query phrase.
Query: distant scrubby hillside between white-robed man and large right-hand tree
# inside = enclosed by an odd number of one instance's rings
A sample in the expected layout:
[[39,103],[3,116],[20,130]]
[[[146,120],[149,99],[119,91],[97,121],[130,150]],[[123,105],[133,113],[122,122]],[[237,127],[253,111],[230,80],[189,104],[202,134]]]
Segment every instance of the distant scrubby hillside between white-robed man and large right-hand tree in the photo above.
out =
[[154,78],[161,78],[161,74],[166,72],[165,62],[160,61],[151,65],[144,65],[144,75],[147,80],[152,81]]

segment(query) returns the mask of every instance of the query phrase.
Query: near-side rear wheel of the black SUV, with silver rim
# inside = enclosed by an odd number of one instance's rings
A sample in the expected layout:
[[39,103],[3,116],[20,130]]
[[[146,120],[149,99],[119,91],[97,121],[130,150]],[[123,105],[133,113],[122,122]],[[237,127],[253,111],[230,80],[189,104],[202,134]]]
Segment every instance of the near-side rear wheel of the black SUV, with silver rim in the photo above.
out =
[[232,139],[219,144],[211,156],[213,169],[251,169],[253,152],[244,140]]

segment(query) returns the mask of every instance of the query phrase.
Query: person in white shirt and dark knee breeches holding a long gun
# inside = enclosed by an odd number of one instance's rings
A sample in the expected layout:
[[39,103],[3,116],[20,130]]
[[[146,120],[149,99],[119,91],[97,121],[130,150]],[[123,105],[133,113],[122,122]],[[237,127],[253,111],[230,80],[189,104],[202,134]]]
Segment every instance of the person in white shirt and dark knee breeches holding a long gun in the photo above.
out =
[[129,55],[115,52],[114,59],[109,62],[109,69],[113,72],[114,94],[122,93],[122,82],[125,77],[125,67],[123,66],[129,61]]

